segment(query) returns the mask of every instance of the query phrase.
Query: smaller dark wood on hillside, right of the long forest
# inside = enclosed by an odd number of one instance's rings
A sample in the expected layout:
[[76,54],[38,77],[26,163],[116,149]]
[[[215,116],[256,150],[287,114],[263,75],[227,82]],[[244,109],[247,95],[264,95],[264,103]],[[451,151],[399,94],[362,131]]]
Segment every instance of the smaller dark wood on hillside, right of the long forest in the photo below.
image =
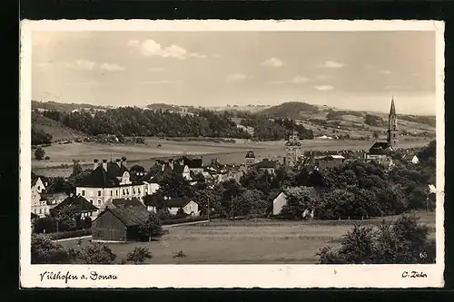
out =
[[240,122],[245,127],[254,129],[253,137],[257,140],[286,139],[290,131],[296,130],[300,140],[312,140],[313,132],[290,119],[271,120],[262,115],[255,115]]

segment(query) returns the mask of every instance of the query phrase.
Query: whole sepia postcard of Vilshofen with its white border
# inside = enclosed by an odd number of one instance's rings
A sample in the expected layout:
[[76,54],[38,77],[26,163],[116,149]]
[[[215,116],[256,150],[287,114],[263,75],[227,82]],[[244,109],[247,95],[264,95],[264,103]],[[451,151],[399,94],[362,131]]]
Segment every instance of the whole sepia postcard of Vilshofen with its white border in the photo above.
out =
[[443,287],[443,34],[23,21],[21,287]]

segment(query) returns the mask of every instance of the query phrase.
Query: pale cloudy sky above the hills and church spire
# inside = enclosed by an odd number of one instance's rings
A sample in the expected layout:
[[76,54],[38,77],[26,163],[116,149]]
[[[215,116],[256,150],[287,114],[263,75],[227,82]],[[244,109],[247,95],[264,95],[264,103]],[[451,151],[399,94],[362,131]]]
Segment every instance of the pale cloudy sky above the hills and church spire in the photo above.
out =
[[434,32],[34,32],[32,99],[435,114]]

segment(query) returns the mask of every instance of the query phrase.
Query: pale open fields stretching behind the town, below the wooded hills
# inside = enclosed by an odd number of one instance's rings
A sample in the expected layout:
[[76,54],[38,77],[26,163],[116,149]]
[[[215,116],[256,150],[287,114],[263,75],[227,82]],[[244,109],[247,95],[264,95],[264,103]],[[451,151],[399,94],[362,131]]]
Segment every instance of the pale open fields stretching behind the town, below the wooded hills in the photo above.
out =
[[[208,142],[208,141],[165,141],[148,138],[146,145],[105,144],[96,142],[73,142],[70,144],[53,144],[45,147],[50,161],[36,161],[32,159],[32,169],[35,173],[44,176],[68,176],[72,170],[73,159],[81,161],[84,167],[91,167],[94,159],[110,160],[126,156],[130,165],[140,164],[145,169],[154,164],[155,159],[178,155],[202,155],[203,164],[208,164],[213,158],[231,164],[242,164],[246,151],[253,150],[257,159],[273,159],[281,161],[285,155],[285,141],[244,141],[236,143]],[[156,146],[161,143],[162,148]],[[301,141],[302,149],[336,151],[336,150],[367,150],[373,141],[348,140],[305,140]],[[429,140],[400,141],[400,148],[422,147]],[[33,153],[33,152],[32,152]],[[68,165],[62,167],[62,165]]]

